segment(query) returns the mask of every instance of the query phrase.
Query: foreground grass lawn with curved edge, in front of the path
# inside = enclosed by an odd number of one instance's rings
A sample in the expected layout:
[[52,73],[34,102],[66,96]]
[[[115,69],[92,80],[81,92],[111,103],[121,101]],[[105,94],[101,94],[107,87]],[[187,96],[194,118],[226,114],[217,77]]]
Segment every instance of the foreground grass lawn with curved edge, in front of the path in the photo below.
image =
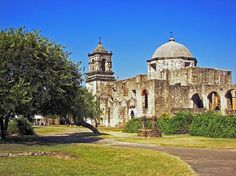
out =
[[53,151],[73,156],[57,159],[49,156],[0,158],[0,175],[193,175],[184,162],[171,155],[142,149],[95,144],[23,145],[0,144],[0,153]]

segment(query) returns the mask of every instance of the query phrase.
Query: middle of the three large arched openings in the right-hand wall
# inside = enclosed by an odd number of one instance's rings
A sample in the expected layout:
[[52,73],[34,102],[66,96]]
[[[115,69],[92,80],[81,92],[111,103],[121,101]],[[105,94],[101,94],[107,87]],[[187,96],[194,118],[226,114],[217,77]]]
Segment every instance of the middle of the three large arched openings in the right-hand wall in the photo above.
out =
[[221,109],[220,95],[217,92],[211,92],[207,96],[209,100],[209,110],[219,111]]

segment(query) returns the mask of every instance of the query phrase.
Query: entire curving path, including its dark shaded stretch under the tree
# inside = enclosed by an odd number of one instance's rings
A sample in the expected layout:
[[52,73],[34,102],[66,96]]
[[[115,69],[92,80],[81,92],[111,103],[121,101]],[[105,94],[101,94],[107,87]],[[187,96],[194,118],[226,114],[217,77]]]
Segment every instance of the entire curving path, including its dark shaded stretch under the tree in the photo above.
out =
[[236,150],[166,147],[152,144],[119,142],[111,138],[103,139],[91,134],[91,132],[85,131],[84,133],[43,136],[39,140],[49,143],[98,143],[119,147],[158,150],[179,157],[188,163],[198,175],[236,176]]

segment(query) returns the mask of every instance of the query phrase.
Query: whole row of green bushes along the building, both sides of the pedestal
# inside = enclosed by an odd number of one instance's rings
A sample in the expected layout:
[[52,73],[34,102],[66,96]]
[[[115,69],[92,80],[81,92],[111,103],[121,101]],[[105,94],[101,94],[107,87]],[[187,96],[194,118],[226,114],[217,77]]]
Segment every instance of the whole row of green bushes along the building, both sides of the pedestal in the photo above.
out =
[[[193,115],[180,112],[174,116],[163,115],[157,119],[157,125],[165,134],[186,134],[193,136],[236,138],[236,116],[223,116],[216,112]],[[151,119],[147,128],[151,128]],[[142,127],[141,118],[128,121],[123,129],[126,133],[137,133]]]

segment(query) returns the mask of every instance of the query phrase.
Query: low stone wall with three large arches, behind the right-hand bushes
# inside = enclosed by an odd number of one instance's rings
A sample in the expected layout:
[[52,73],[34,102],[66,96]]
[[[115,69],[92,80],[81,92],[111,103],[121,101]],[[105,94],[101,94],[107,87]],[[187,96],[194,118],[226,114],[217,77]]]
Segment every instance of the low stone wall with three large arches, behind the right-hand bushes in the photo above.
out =
[[[169,89],[169,109],[170,112],[189,111],[193,113],[204,112],[210,110],[209,95],[216,92],[220,97],[220,110],[223,114],[227,113],[228,100],[226,97],[227,91],[235,88],[228,85],[190,85],[177,86],[172,85]],[[192,97],[198,94],[203,103],[203,108],[194,108]],[[231,114],[235,112],[230,111]]]

